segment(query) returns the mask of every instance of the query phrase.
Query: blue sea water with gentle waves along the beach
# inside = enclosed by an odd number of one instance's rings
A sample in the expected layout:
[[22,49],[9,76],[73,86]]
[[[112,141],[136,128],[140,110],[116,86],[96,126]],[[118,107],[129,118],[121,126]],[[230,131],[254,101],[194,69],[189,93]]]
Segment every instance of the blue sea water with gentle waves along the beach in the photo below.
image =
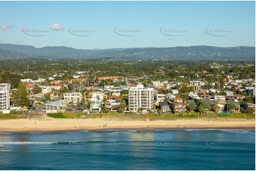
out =
[[0,170],[255,170],[255,130],[0,133]]

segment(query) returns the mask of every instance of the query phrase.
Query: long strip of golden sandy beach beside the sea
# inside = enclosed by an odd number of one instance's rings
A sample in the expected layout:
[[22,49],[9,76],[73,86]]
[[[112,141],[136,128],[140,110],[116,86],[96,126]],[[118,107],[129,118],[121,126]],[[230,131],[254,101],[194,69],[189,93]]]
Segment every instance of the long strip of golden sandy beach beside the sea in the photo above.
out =
[[255,129],[254,119],[176,119],[160,121],[123,121],[111,119],[0,120],[0,132],[75,131],[103,129]]

